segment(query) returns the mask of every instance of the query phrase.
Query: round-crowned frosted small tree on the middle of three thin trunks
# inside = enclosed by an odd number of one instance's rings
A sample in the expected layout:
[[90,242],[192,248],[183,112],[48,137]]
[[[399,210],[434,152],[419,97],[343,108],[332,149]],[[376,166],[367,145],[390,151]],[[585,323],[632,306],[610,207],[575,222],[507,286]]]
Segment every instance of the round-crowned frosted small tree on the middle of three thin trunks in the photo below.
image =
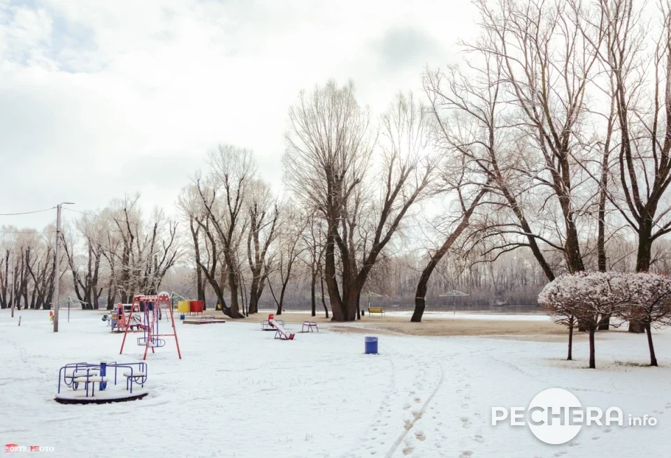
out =
[[[538,302],[555,316],[575,317],[589,332],[589,367],[596,368],[594,334],[605,316],[621,316],[630,302],[627,277],[614,272],[558,276],[543,288]],[[571,328],[570,328],[571,329]]]

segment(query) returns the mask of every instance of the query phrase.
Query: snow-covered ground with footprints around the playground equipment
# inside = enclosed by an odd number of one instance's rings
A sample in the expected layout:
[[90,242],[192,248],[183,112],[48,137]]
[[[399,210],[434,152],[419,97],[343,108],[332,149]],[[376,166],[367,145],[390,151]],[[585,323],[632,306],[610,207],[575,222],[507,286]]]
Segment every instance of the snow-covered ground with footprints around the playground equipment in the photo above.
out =
[[[644,336],[601,334],[599,369],[586,367],[584,337],[574,362],[565,343],[480,337],[380,336],[363,354],[361,332],[296,334],[277,341],[258,321],[178,324],[147,356],[150,394],[95,406],[57,404],[58,369],[68,362],[140,360],[118,355],[100,313],[0,311],[0,439],[53,447],[54,457],[661,457],[670,455],[671,334],[656,335],[661,366],[647,362]],[[468,318],[458,314],[461,318]],[[494,315],[496,316],[496,315]],[[491,316],[488,316],[491,318]],[[479,318],[479,316],[475,316]],[[510,316],[502,317],[510,320]],[[523,317],[521,319],[531,319]],[[449,325],[449,320],[446,320]],[[297,332],[300,327],[288,325]],[[371,333],[371,335],[375,335]],[[131,339],[134,344],[134,339]],[[547,445],[528,427],[491,426],[492,406],[528,406],[551,387],[583,406],[652,415],[655,427],[583,427]],[[668,418],[665,418],[668,417]],[[21,455],[21,454],[19,454]]]

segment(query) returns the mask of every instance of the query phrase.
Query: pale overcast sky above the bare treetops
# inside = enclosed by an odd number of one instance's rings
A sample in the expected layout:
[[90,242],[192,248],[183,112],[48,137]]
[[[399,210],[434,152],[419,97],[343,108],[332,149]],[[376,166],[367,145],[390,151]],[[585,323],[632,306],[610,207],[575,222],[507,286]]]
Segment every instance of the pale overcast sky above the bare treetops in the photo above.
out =
[[219,142],[254,149],[281,191],[300,89],[352,78],[379,114],[473,28],[468,1],[0,0],[0,213],[136,191],[172,212]]

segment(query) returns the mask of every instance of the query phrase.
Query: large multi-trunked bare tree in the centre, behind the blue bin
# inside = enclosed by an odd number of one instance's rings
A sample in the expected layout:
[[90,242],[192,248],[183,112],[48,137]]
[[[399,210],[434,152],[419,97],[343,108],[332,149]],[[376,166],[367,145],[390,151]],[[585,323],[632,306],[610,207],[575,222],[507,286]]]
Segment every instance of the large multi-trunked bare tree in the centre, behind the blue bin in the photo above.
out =
[[356,103],[352,82],[340,88],[331,81],[310,95],[302,91],[289,110],[285,182],[326,221],[324,274],[333,320],[356,318],[370,269],[431,182],[435,163],[422,154],[418,116],[412,96],[398,96],[382,118],[377,177],[384,185],[376,193],[366,186],[375,176],[370,121]]

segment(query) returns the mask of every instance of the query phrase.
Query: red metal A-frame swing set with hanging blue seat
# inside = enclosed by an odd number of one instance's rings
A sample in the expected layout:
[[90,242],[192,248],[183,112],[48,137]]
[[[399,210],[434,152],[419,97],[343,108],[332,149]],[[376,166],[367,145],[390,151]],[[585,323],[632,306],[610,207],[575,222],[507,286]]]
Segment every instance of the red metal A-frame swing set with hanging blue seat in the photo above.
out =
[[[170,323],[166,325],[171,325],[172,331],[165,334],[159,332],[159,322],[163,316],[163,312],[166,312],[166,317]],[[175,345],[177,346],[177,354],[182,359],[182,353],[180,352],[180,343],[177,339],[177,328],[175,328],[175,318],[173,316],[173,306],[170,300],[168,293],[159,293],[157,295],[142,295],[138,294],[133,297],[133,304],[131,304],[131,309],[129,311],[129,320],[134,316],[134,313],[142,314],[144,317],[144,323],[140,327],[143,331],[143,337],[138,337],[138,346],[145,347],[145,354],[142,359],[147,359],[147,353],[149,349],[152,349],[152,353],[155,353],[154,348],[163,347],[166,345],[165,339],[160,339],[160,337],[175,337]],[[129,332],[129,327],[127,326],[124,330],[124,340],[121,343],[121,350],[119,354],[124,353],[124,345],[126,344],[126,337]]]

